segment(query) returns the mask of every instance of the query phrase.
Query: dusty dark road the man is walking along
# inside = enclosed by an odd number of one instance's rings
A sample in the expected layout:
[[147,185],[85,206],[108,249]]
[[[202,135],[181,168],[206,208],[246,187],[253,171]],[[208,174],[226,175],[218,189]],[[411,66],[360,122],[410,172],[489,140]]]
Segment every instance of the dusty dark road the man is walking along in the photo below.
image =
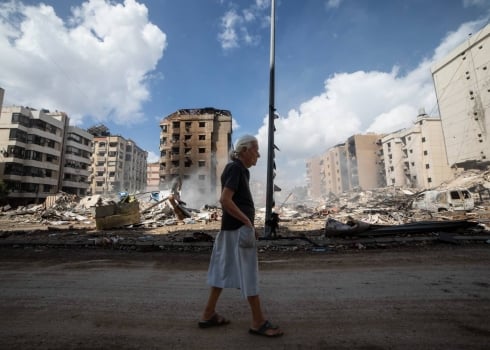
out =
[[0,250],[1,349],[488,349],[490,248],[260,255],[264,309],[285,331],[202,330],[209,254]]

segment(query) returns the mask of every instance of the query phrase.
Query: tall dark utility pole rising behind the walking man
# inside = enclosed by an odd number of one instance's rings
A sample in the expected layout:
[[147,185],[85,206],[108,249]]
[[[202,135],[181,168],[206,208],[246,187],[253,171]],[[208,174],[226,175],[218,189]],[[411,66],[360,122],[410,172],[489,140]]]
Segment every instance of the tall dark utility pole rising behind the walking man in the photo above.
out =
[[275,21],[276,21],[276,3],[271,1],[271,42],[270,42],[270,70],[269,70],[269,139],[267,150],[267,188],[265,204],[265,225],[264,236],[269,238],[271,235],[270,220],[272,218],[272,207],[274,207],[274,170],[276,164],[274,161],[274,119],[276,117],[276,108],[274,106],[274,83],[275,83]]

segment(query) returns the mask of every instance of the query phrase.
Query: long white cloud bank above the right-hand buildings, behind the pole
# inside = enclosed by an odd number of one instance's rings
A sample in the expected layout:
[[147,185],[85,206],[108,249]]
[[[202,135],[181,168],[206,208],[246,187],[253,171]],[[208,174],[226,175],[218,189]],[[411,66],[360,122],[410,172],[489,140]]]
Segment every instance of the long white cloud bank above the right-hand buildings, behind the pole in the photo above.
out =
[[[469,32],[481,29],[485,21],[466,23],[449,33],[433,57],[422,60],[405,75],[393,67],[391,72],[345,72],[327,78],[322,93],[276,119],[274,138],[281,151],[276,152],[274,182],[283,189],[304,186],[306,159],[357,133],[381,134],[409,127],[420,108],[429,115],[438,115],[430,68],[464,41]],[[262,159],[252,172],[257,180],[265,181],[268,118],[257,137]]]

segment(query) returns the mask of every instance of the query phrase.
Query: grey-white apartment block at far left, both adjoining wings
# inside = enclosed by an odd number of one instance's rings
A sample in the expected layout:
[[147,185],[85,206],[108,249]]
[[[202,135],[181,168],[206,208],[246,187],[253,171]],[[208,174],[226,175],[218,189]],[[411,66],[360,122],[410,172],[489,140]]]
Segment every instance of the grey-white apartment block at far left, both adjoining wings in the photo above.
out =
[[64,112],[0,106],[0,179],[12,206],[42,203],[63,191],[89,188],[92,135],[69,125]]

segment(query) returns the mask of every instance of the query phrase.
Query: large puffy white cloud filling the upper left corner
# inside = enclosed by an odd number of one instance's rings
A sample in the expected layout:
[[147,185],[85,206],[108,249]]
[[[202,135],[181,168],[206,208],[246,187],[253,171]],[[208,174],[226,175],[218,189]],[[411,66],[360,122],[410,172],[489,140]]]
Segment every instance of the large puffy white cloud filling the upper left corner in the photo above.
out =
[[135,0],[89,0],[65,22],[51,6],[0,5],[5,103],[62,109],[74,123],[136,123],[166,35]]

